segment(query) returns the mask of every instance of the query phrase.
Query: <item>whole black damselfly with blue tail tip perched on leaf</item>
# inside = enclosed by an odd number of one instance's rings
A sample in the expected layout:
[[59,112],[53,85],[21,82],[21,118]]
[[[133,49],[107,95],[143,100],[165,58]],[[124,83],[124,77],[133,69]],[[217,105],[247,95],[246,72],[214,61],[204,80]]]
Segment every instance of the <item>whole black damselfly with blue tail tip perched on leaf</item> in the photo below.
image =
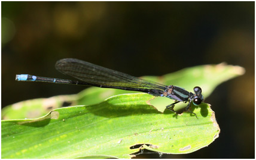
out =
[[194,93],[192,93],[178,86],[165,86],[154,81],[133,77],[129,74],[110,70],[74,58],[60,59],[56,62],[55,67],[61,73],[75,77],[81,81],[38,77],[29,74],[17,74],[16,80],[75,84],[144,92],[153,96],[162,96],[175,100],[176,102],[167,105],[166,108],[176,114],[178,114],[178,112],[174,110],[176,103],[188,102],[184,111],[196,115],[194,112],[190,111],[191,102],[193,102],[194,105],[200,105],[200,103],[203,102],[202,89],[198,86],[194,87]]

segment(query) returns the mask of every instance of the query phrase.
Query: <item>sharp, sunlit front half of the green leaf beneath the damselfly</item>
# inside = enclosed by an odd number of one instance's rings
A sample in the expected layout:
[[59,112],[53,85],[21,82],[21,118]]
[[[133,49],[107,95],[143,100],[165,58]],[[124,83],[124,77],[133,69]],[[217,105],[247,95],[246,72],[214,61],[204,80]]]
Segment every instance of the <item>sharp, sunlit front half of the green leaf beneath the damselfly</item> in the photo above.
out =
[[[148,144],[163,153],[190,153],[208,146],[220,128],[203,103],[194,115],[163,113],[147,104],[153,96],[112,96],[102,103],[54,109],[42,118],[2,121],[2,158],[130,158]],[[142,146],[145,148],[145,145]]]

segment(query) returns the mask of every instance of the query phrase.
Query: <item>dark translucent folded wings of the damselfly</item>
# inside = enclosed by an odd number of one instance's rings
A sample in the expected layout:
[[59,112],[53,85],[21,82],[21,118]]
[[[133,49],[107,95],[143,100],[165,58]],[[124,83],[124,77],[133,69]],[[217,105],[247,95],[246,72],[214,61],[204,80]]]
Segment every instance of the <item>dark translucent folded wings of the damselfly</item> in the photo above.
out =
[[97,84],[100,87],[105,86],[124,90],[133,88],[135,90],[164,90],[167,87],[154,81],[139,79],[129,74],[110,70],[79,59],[60,59],[56,62],[55,67],[63,74],[75,77],[86,83]]

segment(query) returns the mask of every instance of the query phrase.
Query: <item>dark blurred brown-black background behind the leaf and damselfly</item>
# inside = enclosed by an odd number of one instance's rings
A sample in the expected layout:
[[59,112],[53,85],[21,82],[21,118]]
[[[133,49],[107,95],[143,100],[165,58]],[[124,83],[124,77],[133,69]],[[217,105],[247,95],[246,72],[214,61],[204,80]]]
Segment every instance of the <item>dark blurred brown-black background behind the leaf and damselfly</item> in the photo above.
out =
[[[186,67],[245,67],[206,99],[221,128],[211,145],[161,158],[255,158],[254,2],[1,2],[1,106],[74,94],[85,87],[25,83],[16,74],[69,79],[55,70],[78,58],[132,76]],[[144,154],[137,158],[159,158]]]

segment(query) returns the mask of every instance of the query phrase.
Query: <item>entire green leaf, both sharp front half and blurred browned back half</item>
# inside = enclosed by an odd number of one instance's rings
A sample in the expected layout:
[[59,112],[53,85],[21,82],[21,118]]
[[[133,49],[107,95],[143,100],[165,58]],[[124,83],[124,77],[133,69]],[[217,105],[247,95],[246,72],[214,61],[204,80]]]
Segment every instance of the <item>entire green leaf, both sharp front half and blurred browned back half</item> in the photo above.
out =
[[[202,65],[147,79],[190,91],[200,86],[206,98],[218,84],[243,73],[237,66]],[[2,118],[31,119],[2,120],[2,158],[130,158],[144,148],[190,153],[208,146],[220,133],[215,114],[206,103],[191,106],[198,119],[185,112],[176,118],[173,112],[164,111],[173,102],[168,98],[121,93],[135,92],[90,87],[77,95],[7,106]],[[59,108],[67,104],[70,107]],[[45,116],[32,119],[40,115]]]

